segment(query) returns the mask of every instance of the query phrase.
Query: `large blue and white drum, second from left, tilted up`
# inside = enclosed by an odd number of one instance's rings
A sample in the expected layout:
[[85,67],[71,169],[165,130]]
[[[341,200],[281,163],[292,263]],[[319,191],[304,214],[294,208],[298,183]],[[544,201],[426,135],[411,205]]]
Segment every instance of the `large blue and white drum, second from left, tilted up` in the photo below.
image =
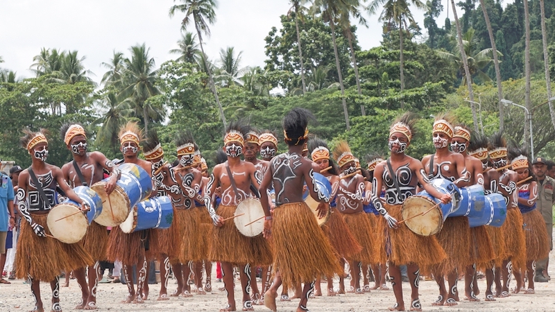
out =
[[103,207],[101,215],[94,221],[107,227],[115,227],[125,221],[132,207],[148,198],[152,192],[151,176],[136,164],[121,164],[121,178],[117,181],[110,198],[104,191],[104,186],[110,179],[105,178],[92,185],[92,189],[99,193]]

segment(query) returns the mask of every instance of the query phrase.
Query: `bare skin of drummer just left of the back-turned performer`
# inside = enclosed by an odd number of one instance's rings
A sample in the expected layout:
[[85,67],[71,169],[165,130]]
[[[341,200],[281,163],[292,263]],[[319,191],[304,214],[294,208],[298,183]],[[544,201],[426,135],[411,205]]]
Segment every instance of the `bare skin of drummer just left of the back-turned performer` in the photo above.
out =
[[[237,145],[237,142],[228,142],[225,147]],[[236,194],[232,185],[230,177],[228,177],[228,171],[225,168],[226,164],[230,167],[232,172],[235,185],[240,194]],[[244,200],[246,196],[250,196],[250,184],[254,184],[258,188],[259,184],[255,177],[256,168],[250,162],[244,162],[237,157],[231,157],[228,155],[228,162],[223,164],[217,164],[212,171],[212,177],[210,178],[212,184],[209,184],[210,188],[207,188],[206,195],[212,196],[216,191],[216,187],[221,186],[221,205],[239,205],[241,200]],[[222,227],[225,222],[233,222],[233,220],[224,221],[221,216],[217,216],[217,227]],[[245,264],[239,266],[241,270],[241,289],[243,290],[243,303],[248,302],[250,297],[246,291],[246,286],[249,277],[245,274],[244,270]],[[224,308],[221,311],[235,311],[235,297],[233,291],[233,266],[229,262],[222,262],[221,269],[223,272],[223,284],[225,290],[228,291],[228,308]]]

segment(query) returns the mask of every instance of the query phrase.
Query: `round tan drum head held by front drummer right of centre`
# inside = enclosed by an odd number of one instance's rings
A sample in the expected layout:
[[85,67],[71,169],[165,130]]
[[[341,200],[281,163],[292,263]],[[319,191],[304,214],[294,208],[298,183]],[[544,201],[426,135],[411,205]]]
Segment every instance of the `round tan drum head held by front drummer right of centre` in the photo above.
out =
[[[417,214],[422,214],[436,205],[435,202],[426,196],[411,196],[403,202],[402,217],[403,220],[411,218]],[[434,235],[443,227],[443,213],[440,207],[432,209],[424,216],[417,216],[407,220],[404,224],[411,229],[412,232],[421,236]]]

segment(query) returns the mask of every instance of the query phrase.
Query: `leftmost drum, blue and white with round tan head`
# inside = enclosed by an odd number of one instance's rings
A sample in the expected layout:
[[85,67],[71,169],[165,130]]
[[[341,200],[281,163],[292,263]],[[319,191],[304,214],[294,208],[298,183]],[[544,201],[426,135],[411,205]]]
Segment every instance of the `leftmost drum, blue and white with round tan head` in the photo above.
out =
[[102,211],[102,200],[95,191],[88,187],[76,187],[74,191],[91,207],[86,214],[80,211],[80,203],[67,198],[53,207],[46,218],[52,236],[67,244],[78,243],[83,239],[89,224]]

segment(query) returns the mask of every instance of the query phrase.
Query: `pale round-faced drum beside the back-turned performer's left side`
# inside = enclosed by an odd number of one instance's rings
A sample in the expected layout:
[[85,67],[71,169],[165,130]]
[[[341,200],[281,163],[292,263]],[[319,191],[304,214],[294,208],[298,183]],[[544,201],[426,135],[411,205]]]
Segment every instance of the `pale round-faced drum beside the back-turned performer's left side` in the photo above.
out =
[[233,222],[239,233],[247,237],[262,234],[264,229],[264,209],[256,198],[247,198],[237,205]]

